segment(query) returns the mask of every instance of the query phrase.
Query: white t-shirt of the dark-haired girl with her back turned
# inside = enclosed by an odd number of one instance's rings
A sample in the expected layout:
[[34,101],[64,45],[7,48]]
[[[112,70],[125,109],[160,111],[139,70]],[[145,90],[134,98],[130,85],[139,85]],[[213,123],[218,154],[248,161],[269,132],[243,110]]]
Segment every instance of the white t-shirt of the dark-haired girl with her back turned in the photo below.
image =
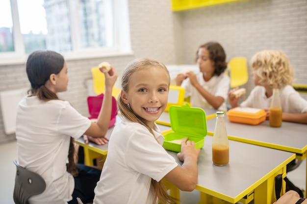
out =
[[91,121],[67,101],[44,102],[23,98],[17,108],[16,138],[19,164],[41,175],[45,191],[30,198],[31,204],[67,204],[75,181],[66,171],[70,137],[78,138]]

